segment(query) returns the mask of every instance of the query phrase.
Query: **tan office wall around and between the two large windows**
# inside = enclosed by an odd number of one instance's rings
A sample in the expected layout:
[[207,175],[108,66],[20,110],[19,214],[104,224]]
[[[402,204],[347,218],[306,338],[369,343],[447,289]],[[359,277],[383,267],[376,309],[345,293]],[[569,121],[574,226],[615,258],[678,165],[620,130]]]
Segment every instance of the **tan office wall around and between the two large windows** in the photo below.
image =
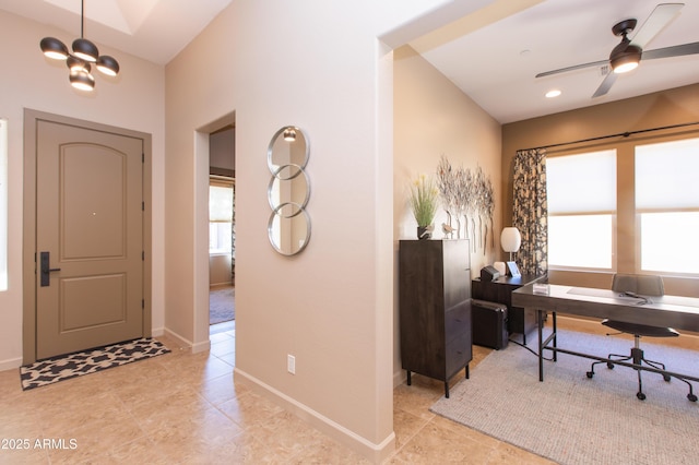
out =
[[[697,121],[699,121],[699,84],[505,124],[502,127],[502,190],[506,201],[502,204],[502,218],[512,217],[512,163],[518,150]],[[697,131],[697,127],[691,130]],[[619,138],[617,140],[620,141],[618,142],[619,163],[627,163],[627,169],[632,169],[628,168],[628,160],[632,158],[631,143],[649,136],[668,135],[683,131],[687,129],[631,135],[628,139]],[[567,150],[600,147],[600,144],[608,142],[578,144],[568,146]],[[560,152],[560,148],[550,148],[549,154],[554,156],[557,151]],[[628,198],[633,192],[628,178],[618,177],[619,198]],[[619,253],[621,259],[617,263],[620,272],[633,272],[635,269],[635,263],[630,259],[633,255],[635,220],[632,208],[620,210],[617,214],[617,247],[624,248],[625,251]],[[552,283],[558,284],[608,287],[612,283],[611,275],[605,273],[552,272],[549,276]],[[665,276],[664,281],[665,290],[668,294],[699,297],[696,279]]]

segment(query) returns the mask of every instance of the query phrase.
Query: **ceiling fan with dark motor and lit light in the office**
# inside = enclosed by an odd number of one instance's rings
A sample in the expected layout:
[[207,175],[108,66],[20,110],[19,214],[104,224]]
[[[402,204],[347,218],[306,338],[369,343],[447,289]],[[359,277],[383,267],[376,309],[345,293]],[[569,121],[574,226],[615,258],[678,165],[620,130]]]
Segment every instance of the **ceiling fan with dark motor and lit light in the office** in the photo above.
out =
[[614,47],[607,60],[593,61],[591,63],[576,64],[572,67],[561,68],[558,70],[546,71],[536,74],[536,78],[544,78],[552,74],[565,73],[568,71],[579,70],[582,68],[608,65],[607,75],[600,84],[592,97],[605,95],[612,88],[616,81],[617,74],[631,71],[638,67],[641,58],[643,60],[653,60],[656,58],[679,57],[683,55],[699,53],[699,41],[676,45],[672,47],[657,48],[655,50],[643,50],[643,47],[650,43],[684,7],[684,3],[660,3],[645,23],[638,29],[633,39],[628,36],[636,28],[637,21],[635,19],[625,20],[612,27],[615,36],[621,37],[621,43]]

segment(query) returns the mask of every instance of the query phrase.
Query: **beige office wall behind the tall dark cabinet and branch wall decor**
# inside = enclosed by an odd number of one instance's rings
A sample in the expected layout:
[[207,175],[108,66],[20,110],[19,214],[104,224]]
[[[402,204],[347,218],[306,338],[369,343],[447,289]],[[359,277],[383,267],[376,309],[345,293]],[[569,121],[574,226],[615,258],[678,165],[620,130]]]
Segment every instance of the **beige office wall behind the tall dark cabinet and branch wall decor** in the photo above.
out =
[[[393,53],[393,237],[395,239],[394,282],[394,383],[405,377],[401,371],[398,327],[398,249],[400,239],[415,239],[415,218],[407,203],[408,183],[420,174],[434,176],[441,155],[451,165],[475,171],[477,167],[490,178],[495,191],[495,247],[476,245],[471,254],[471,273],[499,257],[502,210],[500,170],[500,124],[437,71],[412,48]],[[441,239],[443,208],[435,218],[434,239]],[[455,223],[453,223],[455,225]],[[455,236],[454,236],[455,237]]]

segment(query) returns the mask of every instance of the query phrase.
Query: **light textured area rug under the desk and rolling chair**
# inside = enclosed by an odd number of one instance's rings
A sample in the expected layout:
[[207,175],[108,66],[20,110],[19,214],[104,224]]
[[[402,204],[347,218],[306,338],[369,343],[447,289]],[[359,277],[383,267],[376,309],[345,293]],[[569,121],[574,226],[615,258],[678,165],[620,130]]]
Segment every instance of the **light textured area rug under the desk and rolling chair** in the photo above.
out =
[[[560,347],[602,357],[627,354],[633,344],[562,331],[558,341]],[[664,361],[670,371],[699,372],[699,351],[647,341],[647,358]],[[544,362],[540,382],[538,358],[510,344],[488,355],[471,371],[471,379],[430,410],[560,464],[697,463],[699,403],[687,400],[685,383],[643,372],[647,400],[639,401],[633,369],[609,370],[602,363],[588,379],[591,361],[559,354],[557,362]]]

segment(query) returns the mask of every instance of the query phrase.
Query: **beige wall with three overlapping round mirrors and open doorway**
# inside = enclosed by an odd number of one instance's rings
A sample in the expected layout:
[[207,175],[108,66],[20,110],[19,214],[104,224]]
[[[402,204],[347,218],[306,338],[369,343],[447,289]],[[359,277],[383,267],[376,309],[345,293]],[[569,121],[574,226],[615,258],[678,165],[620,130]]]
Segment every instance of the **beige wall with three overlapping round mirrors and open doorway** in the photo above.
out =
[[[394,438],[392,64],[377,37],[440,3],[236,1],[166,67],[168,331],[208,342],[197,131],[235,112],[235,378],[375,458]],[[285,124],[310,140],[312,234],[292,258],[266,236],[265,151]]]

